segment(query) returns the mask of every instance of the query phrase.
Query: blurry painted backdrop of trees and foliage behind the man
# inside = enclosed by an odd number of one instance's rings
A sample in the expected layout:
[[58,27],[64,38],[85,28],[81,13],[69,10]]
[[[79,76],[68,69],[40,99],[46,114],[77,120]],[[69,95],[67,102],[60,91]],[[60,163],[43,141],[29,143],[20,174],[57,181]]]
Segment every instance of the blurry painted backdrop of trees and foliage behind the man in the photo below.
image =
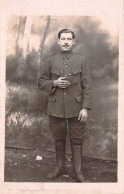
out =
[[[106,22],[82,16],[8,19],[7,147],[54,149],[46,115],[47,96],[38,90],[37,81],[47,56],[58,52],[58,31],[70,28],[76,35],[74,51],[87,57],[93,81],[93,110],[89,112],[84,133],[83,154],[117,159],[118,33],[117,29],[111,31]],[[112,23],[112,18],[108,22]]]

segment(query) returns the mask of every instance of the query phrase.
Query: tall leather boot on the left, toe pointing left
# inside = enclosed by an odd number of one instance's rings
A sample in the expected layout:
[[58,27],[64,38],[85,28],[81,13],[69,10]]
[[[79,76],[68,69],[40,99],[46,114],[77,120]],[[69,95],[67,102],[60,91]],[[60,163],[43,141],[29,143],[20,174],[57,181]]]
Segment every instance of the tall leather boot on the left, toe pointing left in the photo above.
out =
[[65,140],[55,143],[57,167],[48,174],[48,179],[56,179],[65,172]]

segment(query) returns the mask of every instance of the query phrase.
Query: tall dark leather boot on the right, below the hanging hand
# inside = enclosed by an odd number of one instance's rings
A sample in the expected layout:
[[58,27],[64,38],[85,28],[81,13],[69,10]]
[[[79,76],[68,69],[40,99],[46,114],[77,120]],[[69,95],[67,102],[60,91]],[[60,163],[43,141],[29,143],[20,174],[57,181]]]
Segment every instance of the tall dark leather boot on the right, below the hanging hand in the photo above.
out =
[[82,173],[82,145],[71,144],[73,170],[78,182],[89,182]]

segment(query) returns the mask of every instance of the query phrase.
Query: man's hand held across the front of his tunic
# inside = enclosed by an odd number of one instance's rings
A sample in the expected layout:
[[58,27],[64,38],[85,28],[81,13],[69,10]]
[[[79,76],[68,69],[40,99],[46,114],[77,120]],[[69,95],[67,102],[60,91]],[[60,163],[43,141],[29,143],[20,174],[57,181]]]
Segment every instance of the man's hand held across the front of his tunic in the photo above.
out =
[[66,77],[60,77],[57,80],[53,81],[53,86],[54,87],[59,87],[59,88],[67,88],[70,85],[70,82],[68,80],[65,80]]

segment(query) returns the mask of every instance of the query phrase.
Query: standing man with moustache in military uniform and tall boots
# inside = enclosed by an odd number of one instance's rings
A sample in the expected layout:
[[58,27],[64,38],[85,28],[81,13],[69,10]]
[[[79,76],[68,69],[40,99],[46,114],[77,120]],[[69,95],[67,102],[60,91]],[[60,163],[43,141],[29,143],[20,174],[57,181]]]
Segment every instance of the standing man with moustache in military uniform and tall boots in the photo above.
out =
[[88,109],[91,109],[91,79],[86,59],[73,53],[75,34],[69,29],[61,30],[58,44],[60,52],[48,58],[38,83],[48,93],[47,113],[55,139],[57,166],[47,178],[56,179],[64,174],[68,126],[74,173],[83,182],[82,138]]

